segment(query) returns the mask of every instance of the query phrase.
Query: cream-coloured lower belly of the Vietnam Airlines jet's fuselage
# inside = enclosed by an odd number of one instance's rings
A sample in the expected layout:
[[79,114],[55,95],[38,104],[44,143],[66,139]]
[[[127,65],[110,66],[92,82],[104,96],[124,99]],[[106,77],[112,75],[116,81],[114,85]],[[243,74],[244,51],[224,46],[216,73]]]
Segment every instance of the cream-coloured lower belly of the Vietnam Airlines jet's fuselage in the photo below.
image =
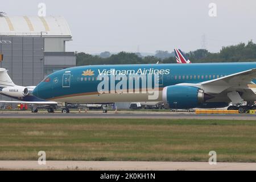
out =
[[56,102],[69,102],[69,103],[103,103],[103,102],[152,102],[162,101],[162,91],[159,91],[157,100],[148,100],[148,95],[145,93],[110,93],[110,94],[93,94],[85,96],[71,96],[65,98],[57,98]]

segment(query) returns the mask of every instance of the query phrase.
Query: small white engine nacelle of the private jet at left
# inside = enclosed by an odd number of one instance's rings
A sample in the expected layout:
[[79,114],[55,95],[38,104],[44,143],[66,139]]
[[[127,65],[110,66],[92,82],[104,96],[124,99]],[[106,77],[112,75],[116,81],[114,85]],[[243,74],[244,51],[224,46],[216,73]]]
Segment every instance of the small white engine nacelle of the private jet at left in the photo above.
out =
[[24,97],[28,94],[28,89],[24,86],[9,86],[2,89],[2,93],[11,97]]

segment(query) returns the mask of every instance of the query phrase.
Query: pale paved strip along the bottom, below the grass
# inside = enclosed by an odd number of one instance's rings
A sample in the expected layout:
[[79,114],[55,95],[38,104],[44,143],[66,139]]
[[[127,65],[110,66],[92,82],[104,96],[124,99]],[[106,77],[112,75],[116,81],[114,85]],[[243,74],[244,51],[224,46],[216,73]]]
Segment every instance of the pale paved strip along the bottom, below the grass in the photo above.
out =
[[250,170],[256,171],[256,163],[217,163],[208,162],[114,162],[114,161],[47,161],[39,165],[37,161],[0,161],[0,169],[39,169],[39,170],[125,170],[125,171],[176,171],[176,170]]

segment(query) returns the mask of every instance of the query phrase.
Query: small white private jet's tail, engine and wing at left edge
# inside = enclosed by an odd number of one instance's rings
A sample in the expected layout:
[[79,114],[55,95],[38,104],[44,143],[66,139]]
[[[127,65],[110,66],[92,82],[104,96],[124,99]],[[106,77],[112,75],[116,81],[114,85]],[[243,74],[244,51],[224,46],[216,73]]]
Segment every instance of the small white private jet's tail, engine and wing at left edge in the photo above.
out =
[[36,86],[15,85],[7,73],[7,69],[0,68],[0,94],[19,101],[0,101],[2,103],[32,104],[32,113],[38,112],[38,106],[46,106],[48,113],[53,113],[57,102],[46,101],[32,95]]

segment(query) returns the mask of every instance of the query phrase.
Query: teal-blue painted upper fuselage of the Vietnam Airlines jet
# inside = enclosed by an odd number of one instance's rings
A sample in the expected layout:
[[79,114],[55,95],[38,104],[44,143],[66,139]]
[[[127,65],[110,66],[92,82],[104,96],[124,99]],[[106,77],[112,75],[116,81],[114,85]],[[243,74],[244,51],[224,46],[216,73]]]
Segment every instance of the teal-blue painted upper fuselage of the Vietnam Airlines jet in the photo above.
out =
[[[138,65],[88,65],[63,69],[52,73],[48,82],[40,82],[34,95],[44,100],[72,94],[97,92],[99,80],[96,77],[102,73],[110,73],[114,69],[118,73],[138,72],[150,74],[153,70],[160,72],[160,86],[181,83],[198,83],[213,80],[217,77],[256,68],[256,63],[207,63],[207,64],[138,64]],[[141,73],[141,72],[140,72]],[[87,75],[86,75],[87,74]],[[146,75],[147,75],[146,74]],[[69,77],[70,75],[70,77]],[[109,76],[110,77],[110,76]],[[117,81],[115,82],[117,84]]]

